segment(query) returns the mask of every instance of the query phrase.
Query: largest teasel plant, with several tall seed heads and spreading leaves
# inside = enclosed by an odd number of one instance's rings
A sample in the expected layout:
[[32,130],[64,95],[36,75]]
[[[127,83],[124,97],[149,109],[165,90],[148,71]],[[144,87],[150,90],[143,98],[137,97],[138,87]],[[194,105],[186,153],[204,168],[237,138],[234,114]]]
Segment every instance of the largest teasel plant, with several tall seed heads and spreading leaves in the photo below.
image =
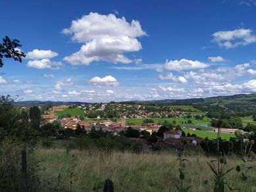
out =
[[228,143],[228,154],[226,155],[225,153],[220,152],[220,130],[223,126],[222,120],[217,121],[217,128],[218,128],[218,133],[217,133],[217,160],[213,159],[213,155],[211,154],[211,151],[209,150],[209,138],[205,137],[205,142],[207,144],[207,149],[210,155],[211,160],[207,162],[209,167],[211,168],[211,171],[213,172],[213,176],[215,178],[215,186],[213,191],[214,192],[224,192],[226,186],[230,189],[230,191],[238,190],[238,189],[233,189],[232,185],[229,185],[226,179],[226,176],[229,172],[234,170],[234,168],[226,168],[226,158],[228,155],[230,155],[230,151],[232,150],[233,143],[230,141]]

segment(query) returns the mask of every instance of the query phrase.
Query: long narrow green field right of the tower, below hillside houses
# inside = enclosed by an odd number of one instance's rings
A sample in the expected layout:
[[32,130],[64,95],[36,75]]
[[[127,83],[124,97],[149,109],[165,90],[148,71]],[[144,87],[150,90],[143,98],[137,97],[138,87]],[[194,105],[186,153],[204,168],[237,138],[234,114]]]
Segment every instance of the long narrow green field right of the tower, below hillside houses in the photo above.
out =
[[[175,121],[176,124],[182,124],[182,122],[188,122],[188,120],[192,120],[192,124],[205,124],[208,125],[211,122],[211,119],[209,118],[203,118],[203,120],[197,120],[195,118],[152,118],[155,122],[155,124],[163,124],[165,120],[168,122]],[[126,124],[137,124],[137,125],[142,125],[143,120],[145,118],[128,118],[126,119]]]

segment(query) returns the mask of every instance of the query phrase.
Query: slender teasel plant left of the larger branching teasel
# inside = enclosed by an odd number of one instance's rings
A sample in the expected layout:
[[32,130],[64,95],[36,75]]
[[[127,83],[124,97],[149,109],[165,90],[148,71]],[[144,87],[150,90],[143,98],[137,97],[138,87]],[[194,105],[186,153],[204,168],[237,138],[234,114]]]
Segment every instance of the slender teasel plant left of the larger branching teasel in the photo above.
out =
[[176,161],[178,160],[179,162],[179,178],[180,178],[180,185],[176,185],[176,189],[178,190],[178,192],[186,192],[190,189],[191,186],[185,187],[184,186],[184,180],[185,180],[185,176],[187,174],[186,172],[186,162],[190,162],[188,159],[185,158],[185,148],[187,145],[187,141],[185,140],[183,142],[184,145],[184,149],[182,152],[178,153],[178,158],[176,159]]

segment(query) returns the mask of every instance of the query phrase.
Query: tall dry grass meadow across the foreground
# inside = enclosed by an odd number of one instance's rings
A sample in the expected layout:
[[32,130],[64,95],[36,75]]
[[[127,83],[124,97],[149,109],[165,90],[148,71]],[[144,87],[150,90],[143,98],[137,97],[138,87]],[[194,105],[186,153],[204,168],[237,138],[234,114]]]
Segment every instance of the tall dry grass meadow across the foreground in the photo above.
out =
[[[115,191],[176,191],[179,180],[176,153],[133,154],[103,153],[99,151],[76,151],[64,149],[38,149],[41,165],[41,180],[49,181],[55,191],[102,191],[107,178],[113,180]],[[184,185],[191,185],[189,191],[212,191],[212,172],[204,155],[186,156],[186,179]],[[226,168],[243,164],[240,158],[228,158]],[[240,180],[240,173],[233,170],[227,180],[242,189],[256,191],[256,163],[249,162],[246,185]]]

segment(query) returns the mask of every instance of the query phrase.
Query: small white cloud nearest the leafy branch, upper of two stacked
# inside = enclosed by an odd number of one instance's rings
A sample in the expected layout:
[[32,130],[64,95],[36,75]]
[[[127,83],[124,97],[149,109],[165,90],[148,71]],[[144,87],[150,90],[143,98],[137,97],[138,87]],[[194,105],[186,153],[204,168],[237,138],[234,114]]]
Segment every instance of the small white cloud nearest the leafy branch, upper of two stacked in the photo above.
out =
[[38,50],[34,49],[33,51],[29,51],[26,53],[26,59],[51,59],[56,57],[58,53],[51,50]]

